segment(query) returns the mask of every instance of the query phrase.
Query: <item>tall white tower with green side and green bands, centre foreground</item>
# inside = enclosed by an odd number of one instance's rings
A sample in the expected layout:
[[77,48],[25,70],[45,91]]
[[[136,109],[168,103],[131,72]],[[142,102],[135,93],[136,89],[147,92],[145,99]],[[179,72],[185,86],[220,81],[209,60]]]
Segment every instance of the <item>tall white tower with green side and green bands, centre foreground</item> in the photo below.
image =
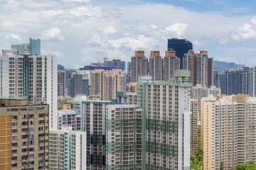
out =
[[137,83],[142,108],[142,169],[190,169],[188,71],[168,82]]

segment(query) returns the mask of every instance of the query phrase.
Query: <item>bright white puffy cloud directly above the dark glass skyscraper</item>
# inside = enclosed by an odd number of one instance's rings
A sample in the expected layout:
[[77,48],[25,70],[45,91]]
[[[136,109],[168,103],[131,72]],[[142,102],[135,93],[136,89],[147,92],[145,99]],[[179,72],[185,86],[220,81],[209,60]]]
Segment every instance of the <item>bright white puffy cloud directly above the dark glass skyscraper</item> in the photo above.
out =
[[188,27],[187,23],[174,23],[166,27],[166,33],[175,33],[178,38],[180,38],[186,32]]

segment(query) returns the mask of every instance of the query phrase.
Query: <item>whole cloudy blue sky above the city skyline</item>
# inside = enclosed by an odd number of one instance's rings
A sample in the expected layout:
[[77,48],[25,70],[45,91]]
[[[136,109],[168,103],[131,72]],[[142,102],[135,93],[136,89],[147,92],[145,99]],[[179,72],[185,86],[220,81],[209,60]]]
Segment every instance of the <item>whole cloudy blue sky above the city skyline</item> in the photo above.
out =
[[[0,48],[41,39],[41,54],[78,69],[130,61],[135,50],[160,50],[186,38],[214,60],[256,66],[256,1],[238,0],[0,0]],[[0,53],[1,55],[1,53]]]

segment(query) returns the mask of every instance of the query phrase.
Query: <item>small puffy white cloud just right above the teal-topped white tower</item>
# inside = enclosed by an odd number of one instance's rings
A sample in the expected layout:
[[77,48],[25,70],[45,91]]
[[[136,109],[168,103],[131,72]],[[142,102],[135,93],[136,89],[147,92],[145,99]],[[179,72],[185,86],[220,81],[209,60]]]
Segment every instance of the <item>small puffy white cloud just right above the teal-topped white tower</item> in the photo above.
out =
[[64,41],[65,37],[62,35],[60,28],[50,28],[41,33],[42,40]]

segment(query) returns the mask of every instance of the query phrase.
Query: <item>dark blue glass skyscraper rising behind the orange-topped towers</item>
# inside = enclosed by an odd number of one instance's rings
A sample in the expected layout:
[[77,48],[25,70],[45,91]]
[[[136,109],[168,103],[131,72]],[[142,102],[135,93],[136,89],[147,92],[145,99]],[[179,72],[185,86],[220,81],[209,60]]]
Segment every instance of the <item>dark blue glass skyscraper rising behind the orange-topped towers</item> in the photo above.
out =
[[168,50],[176,51],[176,56],[181,60],[181,69],[183,69],[183,55],[188,53],[188,50],[193,50],[193,45],[186,39],[171,38],[168,39]]

